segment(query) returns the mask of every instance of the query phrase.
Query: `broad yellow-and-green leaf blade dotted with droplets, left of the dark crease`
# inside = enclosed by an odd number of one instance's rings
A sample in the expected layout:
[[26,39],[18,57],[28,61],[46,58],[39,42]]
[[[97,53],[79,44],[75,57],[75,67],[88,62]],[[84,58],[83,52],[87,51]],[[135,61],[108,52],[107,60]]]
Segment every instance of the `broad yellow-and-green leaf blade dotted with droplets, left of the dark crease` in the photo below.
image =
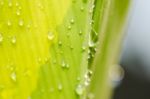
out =
[[92,1],[0,4],[0,98],[84,97]]

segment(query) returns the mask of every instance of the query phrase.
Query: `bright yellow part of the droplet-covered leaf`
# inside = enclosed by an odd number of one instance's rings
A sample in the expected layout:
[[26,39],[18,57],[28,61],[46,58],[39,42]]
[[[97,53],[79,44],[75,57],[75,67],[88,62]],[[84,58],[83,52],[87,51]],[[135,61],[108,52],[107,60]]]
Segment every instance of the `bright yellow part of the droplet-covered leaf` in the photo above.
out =
[[0,0],[0,99],[29,99],[70,2]]

